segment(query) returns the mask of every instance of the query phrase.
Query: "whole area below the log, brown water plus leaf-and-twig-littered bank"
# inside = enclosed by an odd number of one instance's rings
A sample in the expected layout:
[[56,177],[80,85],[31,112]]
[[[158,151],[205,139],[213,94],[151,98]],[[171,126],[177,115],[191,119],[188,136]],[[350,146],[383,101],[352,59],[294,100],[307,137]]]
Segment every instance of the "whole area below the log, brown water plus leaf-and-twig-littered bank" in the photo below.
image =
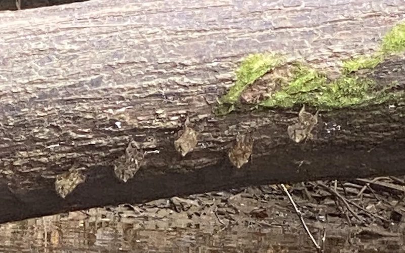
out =
[[[319,181],[286,187],[325,252],[405,251],[404,179]],[[44,235],[44,231],[48,232]],[[83,247],[89,252],[191,252],[197,248],[199,252],[316,252],[280,185],[92,208],[0,225],[0,240],[7,246],[3,249],[17,250],[16,241],[32,243],[39,237],[39,251],[57,242],[56,248],[67,245],[69,252]],[[208,249],[201,251],[203,246]]]

